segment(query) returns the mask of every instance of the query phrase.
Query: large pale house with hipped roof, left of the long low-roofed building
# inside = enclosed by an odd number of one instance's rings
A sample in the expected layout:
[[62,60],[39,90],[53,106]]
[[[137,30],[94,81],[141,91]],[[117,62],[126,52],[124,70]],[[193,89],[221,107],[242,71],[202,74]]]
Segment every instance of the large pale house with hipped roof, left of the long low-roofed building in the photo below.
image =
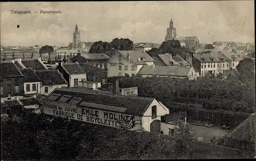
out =
[[108,77],[135,76],[143,65],[153,65],[155,60],[144,51],[115,50],[109,59]]

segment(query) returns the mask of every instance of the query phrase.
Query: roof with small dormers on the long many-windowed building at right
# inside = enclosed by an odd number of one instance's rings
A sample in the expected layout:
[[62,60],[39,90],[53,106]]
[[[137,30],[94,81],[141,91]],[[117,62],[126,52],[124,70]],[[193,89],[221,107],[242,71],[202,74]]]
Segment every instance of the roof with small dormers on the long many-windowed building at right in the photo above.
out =
[[[217,52],[200,53],[200,54],[194,54],[193,56],[196,59],[198,59],[199,61],[202,61],[202,62],[224,62],[224,61],[229,61],[229,59],[227,57],[225,57],[221,53],[217,53]],[[203,61],[201,58],[204,58],[205,60]],[[215,58],[215,61],[211,58]],[[221,58],[223,58],[223,60],[221,60]]]

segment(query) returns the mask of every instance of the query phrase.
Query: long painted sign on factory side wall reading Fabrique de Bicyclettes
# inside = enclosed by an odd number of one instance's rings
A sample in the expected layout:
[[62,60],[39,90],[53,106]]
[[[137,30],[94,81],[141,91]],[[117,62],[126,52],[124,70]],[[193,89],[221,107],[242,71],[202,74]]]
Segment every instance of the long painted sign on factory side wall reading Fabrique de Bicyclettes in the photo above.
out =
[[74,104],[55,102],[50,100],[45,100],[43,111],[45,114],[49,114],[51,116],[68,118],[115,128],[121,127],[119,124],[120,121],[124,121],[126,119],[131,119],[134,121],[138,120],[137,116],[134,117],[129,114],[78,107]]

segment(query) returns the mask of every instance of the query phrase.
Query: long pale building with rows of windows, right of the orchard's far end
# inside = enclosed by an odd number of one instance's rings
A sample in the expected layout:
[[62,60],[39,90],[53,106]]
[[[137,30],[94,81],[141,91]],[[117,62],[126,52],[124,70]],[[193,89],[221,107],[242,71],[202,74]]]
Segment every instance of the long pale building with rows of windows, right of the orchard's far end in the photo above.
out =
[[230,59],[220,52],[193,54],[192,58],[193,65],[200,70],[200,76],[205,76],[207,73],[217,75],[229,70],[229,61]]

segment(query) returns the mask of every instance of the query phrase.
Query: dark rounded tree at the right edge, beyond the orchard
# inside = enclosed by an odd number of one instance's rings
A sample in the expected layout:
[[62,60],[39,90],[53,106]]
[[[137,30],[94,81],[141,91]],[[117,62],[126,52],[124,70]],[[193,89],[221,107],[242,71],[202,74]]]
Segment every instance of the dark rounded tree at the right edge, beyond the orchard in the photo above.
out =
[[242,80],[255,79],[255,64],[250,58],[241,60],[237,66],[237,70]]

